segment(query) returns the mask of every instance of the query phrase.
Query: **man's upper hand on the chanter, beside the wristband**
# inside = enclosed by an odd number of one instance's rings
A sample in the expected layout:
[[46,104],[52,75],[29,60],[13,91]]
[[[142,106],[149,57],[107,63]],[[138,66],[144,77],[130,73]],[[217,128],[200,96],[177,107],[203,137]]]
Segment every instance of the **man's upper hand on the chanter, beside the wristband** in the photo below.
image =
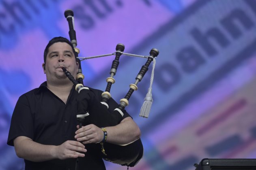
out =
[[[77,125],[77,129],[79,125]],[[96,125],[90,124],[82,126],[75,132],[75,139],[83,144],[99,143],[103,139],[103,131]]]

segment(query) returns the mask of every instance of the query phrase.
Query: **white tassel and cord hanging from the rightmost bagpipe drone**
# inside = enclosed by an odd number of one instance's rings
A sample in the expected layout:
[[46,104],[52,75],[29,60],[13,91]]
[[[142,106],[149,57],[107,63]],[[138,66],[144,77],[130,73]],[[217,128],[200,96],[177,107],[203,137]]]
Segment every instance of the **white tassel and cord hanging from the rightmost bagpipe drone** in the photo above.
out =
[[154,79],[154,70],[155,70],[155,58],[153,59],[153,68],[152,68],[152,73],[151,73],[151,78],[150,78],[150,86],[148,88],[148,93],[146,94],[145,101],[142,104],[142,107],[140,109],[140,116],[144,118],[148,118],[149,112],[151,110],[151,106],[153,103],[153,98],[152,98],[152,84],[153,84],[153,79]]

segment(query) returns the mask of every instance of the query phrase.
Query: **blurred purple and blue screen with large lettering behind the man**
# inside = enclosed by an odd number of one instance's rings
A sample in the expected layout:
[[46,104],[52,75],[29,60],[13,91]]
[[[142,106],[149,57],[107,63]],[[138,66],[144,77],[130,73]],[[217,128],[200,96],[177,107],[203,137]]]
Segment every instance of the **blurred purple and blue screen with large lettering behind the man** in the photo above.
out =
[[[80,57],[159,50],[153,105],[139,117],[152,65],[126,110],[142,132],[144,156],[132,170],[194,170],[208,158],[256,158],[255,0],[0,0],[0,170],[24,169],[6,144],[19,96],[39,87],[43,51],[69,38],[74,11]],[[82,61],[84,84],[105,91],[114,56]],[[142,65],[120,57],[112,85],[118,102]],[[105,162],[108,170],[126,167]]]

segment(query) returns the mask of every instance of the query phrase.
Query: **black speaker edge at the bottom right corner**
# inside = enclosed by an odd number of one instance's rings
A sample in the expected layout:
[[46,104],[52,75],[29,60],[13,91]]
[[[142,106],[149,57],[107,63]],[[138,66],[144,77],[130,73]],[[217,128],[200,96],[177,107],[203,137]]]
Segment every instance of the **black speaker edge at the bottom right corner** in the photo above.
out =
[[208,159],[194,164],[196,170],[256,170],[256,159]]

